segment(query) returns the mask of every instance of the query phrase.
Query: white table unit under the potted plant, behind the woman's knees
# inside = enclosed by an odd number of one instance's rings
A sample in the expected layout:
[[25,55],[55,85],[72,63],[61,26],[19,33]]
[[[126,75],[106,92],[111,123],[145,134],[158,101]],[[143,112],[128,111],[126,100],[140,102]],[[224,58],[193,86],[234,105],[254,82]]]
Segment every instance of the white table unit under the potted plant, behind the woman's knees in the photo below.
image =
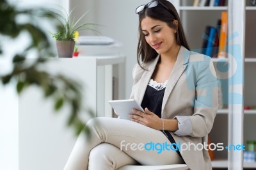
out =
[[[97,114],[112,116],[108,100],[113,99],[113,76],[117,98],[124,92],[124,56],[86,56],[50,59],[45,70],[62,73],[83,84],[84,103]],[[120,92],[120,93],[119,93]],[[36,87],[19,97],[19,169],[63,169],[76,142],[74,130],[67,127],[69,108],[54,113],[52,100],[45,100]],[[86,114],[84,114],[84,118]],[[82,116],[83,117],[83,116]]]

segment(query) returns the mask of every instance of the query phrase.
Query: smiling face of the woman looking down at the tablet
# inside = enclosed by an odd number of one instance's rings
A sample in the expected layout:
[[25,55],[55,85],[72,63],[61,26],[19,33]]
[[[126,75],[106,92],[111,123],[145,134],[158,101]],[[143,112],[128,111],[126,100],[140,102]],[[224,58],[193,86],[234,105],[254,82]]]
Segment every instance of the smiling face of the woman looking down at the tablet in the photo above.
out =
[[141,20],[141,29],[147,43],[156,50],[158,54],[172,51],[177,44],[175,29],[170,28],[166,22],[145,17]]

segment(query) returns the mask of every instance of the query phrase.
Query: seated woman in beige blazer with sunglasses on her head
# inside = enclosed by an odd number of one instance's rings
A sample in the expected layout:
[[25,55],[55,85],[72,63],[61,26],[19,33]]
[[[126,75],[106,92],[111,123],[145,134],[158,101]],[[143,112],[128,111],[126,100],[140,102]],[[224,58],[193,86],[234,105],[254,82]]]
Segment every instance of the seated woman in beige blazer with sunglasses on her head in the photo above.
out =
[[[193,148],[206,141],[218,109],[218,81],[211,58],[189,51],[170,2],[151,1],[136,13],[140,37],[131,98],[146,114],[132,110],[138,114],[130,115],[132,121],[88,121],[90,141],[83,133],[79,136],[65,169],[184,163],[190,169],[211,169],[207,150]],[[159,148],[159,144],[172,147]],[[190,150],[183,147],[189,144]]]

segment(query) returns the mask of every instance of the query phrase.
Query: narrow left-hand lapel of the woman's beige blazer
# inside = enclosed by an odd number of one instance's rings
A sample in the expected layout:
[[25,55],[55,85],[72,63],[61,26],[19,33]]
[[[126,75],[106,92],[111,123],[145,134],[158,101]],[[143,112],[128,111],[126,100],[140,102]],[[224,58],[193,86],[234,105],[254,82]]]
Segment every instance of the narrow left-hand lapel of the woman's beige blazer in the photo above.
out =
[[140,84],[138,84],[139,86],[139,90],[138,90],[138,98],[136,98],[136,101],[138,102],[138,104],[141,104],[142,100],[143,100],[143,97],[145,95],[145,91],[147,89],[147,86],[148,86],[148,82],[150,81],[151,77],[152,77],[152,74],[154,73],[154,70],[156,68],[156,65],[157,65],[157,61],[159,59],[159,55],[156,57],[156,59],[154,59],[152,61],[152,63],[149,63],[148,65],[145,66],[145,68],[148,70],[148,71],[145,71],[141,77],[141,80],[140,80]]

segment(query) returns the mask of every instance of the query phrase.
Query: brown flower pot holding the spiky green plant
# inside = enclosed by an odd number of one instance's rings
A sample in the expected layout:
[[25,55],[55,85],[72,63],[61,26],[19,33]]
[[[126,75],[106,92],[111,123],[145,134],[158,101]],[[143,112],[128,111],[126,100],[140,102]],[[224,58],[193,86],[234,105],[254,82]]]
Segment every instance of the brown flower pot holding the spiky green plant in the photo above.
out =
[[75,41],[56,41],[59,58],[72,58]]

